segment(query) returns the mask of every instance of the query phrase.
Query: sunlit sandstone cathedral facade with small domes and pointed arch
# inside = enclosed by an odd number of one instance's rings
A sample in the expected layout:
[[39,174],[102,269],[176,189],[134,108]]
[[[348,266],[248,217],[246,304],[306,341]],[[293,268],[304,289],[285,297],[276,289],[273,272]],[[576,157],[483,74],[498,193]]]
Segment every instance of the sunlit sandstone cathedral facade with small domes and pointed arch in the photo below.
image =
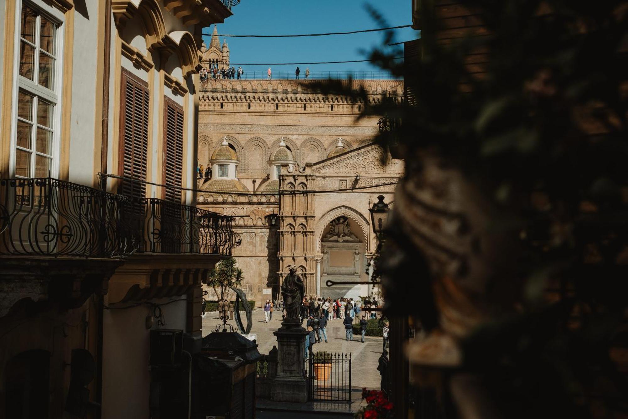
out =
[[[219,42],[203,64],[216,65]],[[225,46],[221,49],[225,52]],[[210,55],[210,53],[212,55]],[[217,65],[229,67],[226,60]],[[202,82],[198,115],[197,206],[235,217],[242,288],[259,304],[278,298],[294,265],[311,296],[364,296],[376,238],[369,208],[393,191],[403,162],[372,143],[377,116],[364,103],[308,91],[311,81],[214,79]],[[348,82],[347,82],[348,83]],[[369,101],[401,100],[403,82],[354,80]],[[327,281],[349,282],[326,286]]]

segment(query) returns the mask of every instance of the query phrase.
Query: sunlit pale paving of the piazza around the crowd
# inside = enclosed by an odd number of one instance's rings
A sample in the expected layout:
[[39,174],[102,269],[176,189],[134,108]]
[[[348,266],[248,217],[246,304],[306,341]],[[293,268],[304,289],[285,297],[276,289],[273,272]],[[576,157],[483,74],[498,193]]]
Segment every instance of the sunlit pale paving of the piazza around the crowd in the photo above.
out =
[[[217,317],[217,312],[208,312],[203,319],[203,336],[214,331],[217,324],[222,323]],[[244,317],[242,312],[242,317]],[[246,321],[246,320],[245,320]],[[235,320],[229,323],[236,325]],[[305,323],[305,322],[304,322]],[[277,338],[273,332],[281,327],[281,313],[279,316],[273,315],[273,320],[266,323],[264,312],[257,309],[253,312],[253,327],[251,333],[257,334],[257,344],[260,354],[268,354],[273,345],[277,345]],[[381,337],[365,337],[366,343],[360,342],[360,336],[354,335],[353,342],[345,340],[345,327],[342,320],[330,320],[327,323],[327,340],[321,344],[315,344],[314,352],[327,350],[328,352],[346,352],[351,354],[351,375],[352,386],[354,388],[377,388],[379,389],[380,376],[377,371],[377,360],[382,352]]]

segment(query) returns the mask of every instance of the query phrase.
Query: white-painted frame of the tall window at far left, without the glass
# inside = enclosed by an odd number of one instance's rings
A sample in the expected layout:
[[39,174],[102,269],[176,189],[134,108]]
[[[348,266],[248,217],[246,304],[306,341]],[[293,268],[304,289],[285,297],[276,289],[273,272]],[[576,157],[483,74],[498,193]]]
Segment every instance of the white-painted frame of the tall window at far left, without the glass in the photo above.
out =
[[[36,9],[40,14],[43,14],[48,20],[52,21],[57,25],[57,30],[55,31],[55,66],[53,67],[53,84],[52,89],[47,89],[46,87],[40,86],[38,81],[31,81],[26,77],[19,75],[19,52],[20,52],[20,32],[21,32],[21,13],[22,6],[26,5],[30,8]],[[39,19],[37,20],[39,23]],[[9,177],[16,177],[16,150],[17,150],[17,131],[18,131],[18,92],[20,90],[24,92],[28,92],[35,96],[33,100],[33,109],[35,112],[33,113],[33,131],[35,135],[31,138],[31,150],[28,152],[31,153],[31,165],[30,165],[30,176],[35,176],[35,158],[36,155],[45,155],[46,157],[50,157],[50,176],[58,177],[59,174],[59,160],[60,160],[60,148],[61,148],[61,115],[62,115],[62,89],[63,89],[63,47],[65,43],[65,15],[62,11],[54,8],[50,4],[46,4],[41,0],[22,0],[16,2],[15,8],[15,37],[14,37],[14,54],[13,54],[13,86],[12,86],[12,109],[11,109],[11,152],[9,154]],[[39,45],[39,33],[40,26],[38,24],[35,25],[36,30],[36,45]],[[33,56],[33,65],[39,65],[39,50],[40,48],[35,48],[35,55]],[[38,69],[37,74],[38,74]],[[52,126],[49,130],[52,131],[52,140],[50,146],[50,154],[46,155],[43,153],[36,152],[36,129],[37,129],[37,100],[36,98],[45,99],[49,103],[53,104],[53,118],[52,118]],[[29,122],[31,123],[31,122]],[[46,174],[45,177],[48,177]]]

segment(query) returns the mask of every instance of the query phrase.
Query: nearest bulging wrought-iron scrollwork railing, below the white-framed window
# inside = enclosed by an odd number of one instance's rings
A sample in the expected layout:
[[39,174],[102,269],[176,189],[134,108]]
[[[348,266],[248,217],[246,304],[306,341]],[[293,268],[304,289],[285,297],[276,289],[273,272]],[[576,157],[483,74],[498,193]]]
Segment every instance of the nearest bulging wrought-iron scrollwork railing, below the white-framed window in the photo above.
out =
[[0,254],[126,257],[139,232],[129,198],[51,177],[0,179]]

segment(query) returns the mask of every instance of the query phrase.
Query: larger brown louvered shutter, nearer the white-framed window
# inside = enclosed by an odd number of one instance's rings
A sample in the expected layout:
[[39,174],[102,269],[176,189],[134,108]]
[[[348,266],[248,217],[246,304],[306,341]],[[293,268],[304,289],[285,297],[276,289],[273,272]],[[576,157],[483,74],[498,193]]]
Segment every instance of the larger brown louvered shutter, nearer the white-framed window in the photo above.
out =
[[134,181],[122,181],[119,193],[132,198],[146,194],[149,101],[148,84],[122,70],[119,170]]

